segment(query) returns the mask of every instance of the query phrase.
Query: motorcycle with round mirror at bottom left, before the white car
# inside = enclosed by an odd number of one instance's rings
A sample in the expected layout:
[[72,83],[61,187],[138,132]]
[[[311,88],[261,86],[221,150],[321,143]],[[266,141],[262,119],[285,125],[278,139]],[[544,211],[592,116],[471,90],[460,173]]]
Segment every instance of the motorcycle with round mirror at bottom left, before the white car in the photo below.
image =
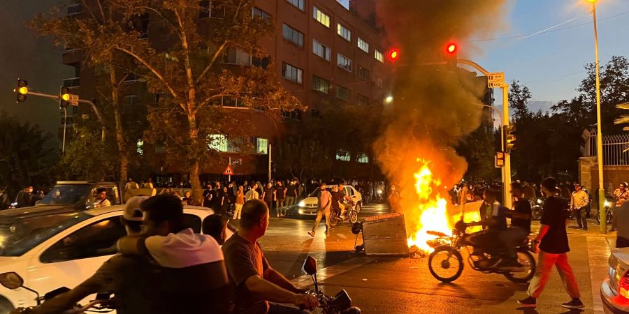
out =
[[[10,290],[15,290],[21,287],[24,288],[24,290],[33,292],[36,295],[35,301],[37,306],[40,306],[42,302],[57,297],[57,295],[59,294],[70,291],[68,287],[60,287],[44,294],[43,297],[41,297],[39,293],[35,290],[32,290],[29,287],[25,287],[24,279],[22,279],[22,277],[14,271],[0,274],[0,284]],[[11,313],[28,313],[28,311],[32,310],[33,308],[34,307],[32,306],[29,308],[16,308]],[[85,306],[76,304],[73,309],[64,312],[64,314],[80,314],[86,312],[109,313],[113,312],[114,310],[114,301],[110,299],[110,294],[99,293],[96,294],[96,300],[90,301],[88,304],[85,304]]]

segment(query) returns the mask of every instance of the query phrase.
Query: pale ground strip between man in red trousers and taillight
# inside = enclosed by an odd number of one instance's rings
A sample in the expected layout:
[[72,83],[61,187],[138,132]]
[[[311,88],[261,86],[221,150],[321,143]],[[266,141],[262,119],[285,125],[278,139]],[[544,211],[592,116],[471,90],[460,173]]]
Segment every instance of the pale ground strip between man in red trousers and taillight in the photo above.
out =
[[607,237],[586,237],[588,246],[588,266],[590,267],[590,283],[592,286],[592,301],[594,313],[603,313],[600,299],[600,285],[607,277],[609,260],[609,239]]

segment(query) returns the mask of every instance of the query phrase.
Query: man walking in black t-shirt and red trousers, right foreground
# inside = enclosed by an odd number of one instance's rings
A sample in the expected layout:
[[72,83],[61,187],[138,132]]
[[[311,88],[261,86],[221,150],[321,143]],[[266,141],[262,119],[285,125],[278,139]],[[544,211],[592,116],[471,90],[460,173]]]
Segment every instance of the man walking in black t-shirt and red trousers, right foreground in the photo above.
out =
[[567,213],[564,201],[555,196],[559,193],[556,186],[557,180],[554,178],[546,178],[542,181],[542,193],[547,195],[547,199],[544,201],[540,232],[535,239],[539,257],[535,276],[528,285],[528,297],[519,300],[518,303],[526,307],[537,306],[537,298],[548,283],[553,266],[556,266],[567,294],[572,298],[561,306],[584,308],[577,280],[567,260],[566,253],[570,251],[565,230]]

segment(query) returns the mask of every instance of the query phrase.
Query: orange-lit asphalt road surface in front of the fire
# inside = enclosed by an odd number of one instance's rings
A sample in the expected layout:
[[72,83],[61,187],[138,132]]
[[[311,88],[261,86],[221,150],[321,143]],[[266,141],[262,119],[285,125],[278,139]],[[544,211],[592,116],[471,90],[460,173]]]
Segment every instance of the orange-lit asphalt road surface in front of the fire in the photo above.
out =
[[[359,218],[386,212],[383,204],[368,205]],[[592,252],[607,246],[607,238],[594,234],[595,228],[587,233],[570,230],[569,259],[586,305],[586,310],[579,312],[561,308],[569,297],[556,271],[538,299],[537,310],[519,308],[516,300],[526,297],[527,285],[479,273],[467,264],[454,283],[440,283],[429,273],[427,258],[367,257],[353,251],[356,237],[350,232],[351,224],[338,225],[329,237],[321,224],[313,239],[307,234],[313,223],[314,218],[272,218],[260,241],[267,259],[295,283],[312,287],[301,271],[305,257],[312,255],[321,270],[322,289],[328,294],[347,290],[363,313],[599,313],[595,303],[607,269],[605,253],[595,253],[602,255],[595,264]]]

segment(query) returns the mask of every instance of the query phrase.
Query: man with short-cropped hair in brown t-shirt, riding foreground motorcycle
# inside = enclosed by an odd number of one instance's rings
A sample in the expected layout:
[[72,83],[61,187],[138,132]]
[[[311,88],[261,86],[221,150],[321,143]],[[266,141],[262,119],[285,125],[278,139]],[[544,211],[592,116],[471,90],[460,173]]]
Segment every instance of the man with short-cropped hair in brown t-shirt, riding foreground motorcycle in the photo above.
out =
[[233,292],[233,313],[308,313],[282,305],[315,308],[319,302],[310,294],[303,294],[304,290],[295,287],[268,264],[258,243],[258,239],[266,233],[268,218],[269,211],[265,202],[245,202],[243,214],[240,216],[240,230],[223,244],[230,290]]

